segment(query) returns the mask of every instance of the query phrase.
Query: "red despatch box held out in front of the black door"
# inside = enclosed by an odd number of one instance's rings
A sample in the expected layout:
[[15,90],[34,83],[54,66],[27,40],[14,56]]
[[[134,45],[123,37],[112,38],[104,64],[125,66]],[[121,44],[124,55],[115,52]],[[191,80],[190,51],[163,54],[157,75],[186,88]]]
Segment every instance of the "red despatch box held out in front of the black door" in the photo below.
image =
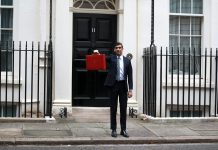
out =
[[87,70],[106,70],[105,54],[86,55]]

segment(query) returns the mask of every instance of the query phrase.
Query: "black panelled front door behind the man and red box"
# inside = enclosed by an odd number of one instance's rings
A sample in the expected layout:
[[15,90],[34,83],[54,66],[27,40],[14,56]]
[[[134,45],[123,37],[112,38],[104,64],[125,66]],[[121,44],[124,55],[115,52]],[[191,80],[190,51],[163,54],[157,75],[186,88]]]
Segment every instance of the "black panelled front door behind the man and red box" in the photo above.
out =
[[116,20],[116,15],[73,15],[73,106],[109,106],[109,93],[104,87],[107,71],[87,71],[85,56],[94,49],[98,49],[101,54],[112,53],[117,35]]

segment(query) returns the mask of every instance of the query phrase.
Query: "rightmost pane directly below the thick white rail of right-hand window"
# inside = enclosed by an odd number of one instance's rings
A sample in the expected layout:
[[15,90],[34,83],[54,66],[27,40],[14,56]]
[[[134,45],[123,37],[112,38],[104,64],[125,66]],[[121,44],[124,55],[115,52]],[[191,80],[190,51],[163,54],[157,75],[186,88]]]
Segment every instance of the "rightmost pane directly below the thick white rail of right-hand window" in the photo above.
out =
[[200,17],[192,17],[191,18],[191,34],[192,35],[201,35],[201,18]]

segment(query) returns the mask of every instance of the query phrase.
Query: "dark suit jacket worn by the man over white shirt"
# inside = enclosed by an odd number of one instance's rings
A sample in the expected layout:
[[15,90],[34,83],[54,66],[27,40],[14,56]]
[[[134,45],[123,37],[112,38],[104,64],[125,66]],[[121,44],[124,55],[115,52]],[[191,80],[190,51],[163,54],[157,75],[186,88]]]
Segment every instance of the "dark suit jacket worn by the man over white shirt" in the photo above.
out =
[[[116,55],[110,55],[107,58],[107,61],[110,63],[110,68],[107,74],[107,78],[105,80],[104,85],[107,87],[114,86],[116,82],[116,74],[117,74],[117,56]],[[126,85],[126,91],[129,89],[133,89],[133,77],[132,77],[132,64],[131,61],[123,57],[123,64],[124,64],[124,79],[125,79],[125,85]],[[128,86],[127,86],[128,81]]]

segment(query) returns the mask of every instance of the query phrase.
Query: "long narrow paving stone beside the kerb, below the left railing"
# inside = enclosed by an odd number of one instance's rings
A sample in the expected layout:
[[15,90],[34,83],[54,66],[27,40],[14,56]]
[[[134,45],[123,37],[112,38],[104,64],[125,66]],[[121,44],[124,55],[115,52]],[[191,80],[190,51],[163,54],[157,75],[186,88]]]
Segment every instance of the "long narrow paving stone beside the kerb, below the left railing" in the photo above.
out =
[[24,130],[24,136],[34,137],[62,137],[72,136],[71,130]]

